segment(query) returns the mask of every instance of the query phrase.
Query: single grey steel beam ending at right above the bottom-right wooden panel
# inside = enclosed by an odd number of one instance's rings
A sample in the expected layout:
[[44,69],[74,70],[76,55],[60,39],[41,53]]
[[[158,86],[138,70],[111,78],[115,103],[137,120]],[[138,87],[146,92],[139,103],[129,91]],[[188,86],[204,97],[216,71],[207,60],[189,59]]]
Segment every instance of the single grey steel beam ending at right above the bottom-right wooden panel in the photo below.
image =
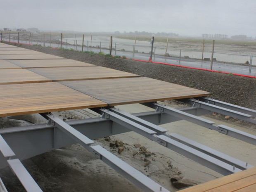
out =
[[192,147],[193,149],[196,149],[200,152],[203,152],[204,154],[210,155],[216,159],[219,159],[220,161],[223,161],[227,164],[230,164],[231,166],[235,166],[241,170],[245,170],[248,168],[252,168],[252,165],[249,165],[248,163],[244,161],[240,161],[239,159],[235,159],[232,156],[226,155],[222,152],[216,151],[215,149],[212,149],[210,147],[207,147],[205,145],[202,145],[201,143],[195,142],[193,140],[188,139],[187,137],[183,137],[181,135],[178,135],[177,133],[170,133],[168,134],[169,137],[173,140],[176,140],[180,143],[183,143],[189,147]]

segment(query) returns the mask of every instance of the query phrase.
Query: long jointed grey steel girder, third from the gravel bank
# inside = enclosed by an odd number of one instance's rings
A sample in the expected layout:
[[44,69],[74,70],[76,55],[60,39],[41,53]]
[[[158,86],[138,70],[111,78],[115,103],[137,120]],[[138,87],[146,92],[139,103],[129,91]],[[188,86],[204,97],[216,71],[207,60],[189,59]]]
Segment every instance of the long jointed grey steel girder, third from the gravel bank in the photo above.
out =
[[236,139],[242,140],[244,142],[248,142],[250,144],[256,145],[256,136],[255,135],[245,133],[243,131],[238,131],[237,129],[230,128],[228,126],[222,126],[222,125],[214,126],[213,124],[215,122],[213,122],[213,121],[209,121],[207,119],[204,119],[204,118],[192,115],[192,114],[188,114],[188,113],[186,113],[184,111],[180,111],[178,109],[166,107],[166,106],[158,104],[158,103],[145,103],[145,105],[156,109],[157,112],[166,113],[171,116],[174,116],[175,118],[178,118],[179,120],[184,119],[186,121],[195,123],[199,126],[203,126],[203,127],[206,127],[206,128],[212,129],[212,130],[216,130],[225,135],[228,135],[228,136],[234,137]]

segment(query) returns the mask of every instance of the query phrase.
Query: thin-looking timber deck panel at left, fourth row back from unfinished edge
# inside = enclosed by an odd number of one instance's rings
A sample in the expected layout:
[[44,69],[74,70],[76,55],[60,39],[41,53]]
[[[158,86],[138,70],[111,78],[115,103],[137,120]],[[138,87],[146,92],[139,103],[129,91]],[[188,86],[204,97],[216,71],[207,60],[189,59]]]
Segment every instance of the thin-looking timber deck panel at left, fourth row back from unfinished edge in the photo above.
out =
[[0,55],[0,60],[23,60],[23,59],[65,59],[64,57],[59,57],[50,54],[5,54]]

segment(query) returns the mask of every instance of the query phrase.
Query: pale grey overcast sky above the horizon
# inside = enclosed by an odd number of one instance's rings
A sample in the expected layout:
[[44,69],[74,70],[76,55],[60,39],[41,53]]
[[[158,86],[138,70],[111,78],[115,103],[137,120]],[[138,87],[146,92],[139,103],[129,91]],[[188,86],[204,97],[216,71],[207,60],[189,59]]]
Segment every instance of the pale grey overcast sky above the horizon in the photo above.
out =
[[0,0],[0,28],[256,36],[256,0]]

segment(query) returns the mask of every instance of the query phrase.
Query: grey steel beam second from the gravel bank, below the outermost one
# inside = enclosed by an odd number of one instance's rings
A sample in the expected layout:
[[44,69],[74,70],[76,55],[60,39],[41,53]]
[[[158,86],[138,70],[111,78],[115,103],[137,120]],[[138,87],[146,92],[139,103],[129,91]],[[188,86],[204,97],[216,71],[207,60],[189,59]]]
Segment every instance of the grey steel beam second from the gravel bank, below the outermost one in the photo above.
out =
[[209,111],[213,111],[219,114],[223,114],[223,115],[228,115],[228,116],[232,116],[234,118],[237,119],[241,119],[243,121],[247,121],[250,123],[256,123],[255,119],[252,119],[252,115],[249,114],[245,114],[239,111],[234,111],[232,109],[227,109],[224,107],[219,107],[213,104],[209,104],[209,103],[205,103],[199,100],[194,100],[194,99],[181,99],[180,101],[185,102],[187,104],[192,105],[193,107],[198,107],[198,108],[203,108]]

